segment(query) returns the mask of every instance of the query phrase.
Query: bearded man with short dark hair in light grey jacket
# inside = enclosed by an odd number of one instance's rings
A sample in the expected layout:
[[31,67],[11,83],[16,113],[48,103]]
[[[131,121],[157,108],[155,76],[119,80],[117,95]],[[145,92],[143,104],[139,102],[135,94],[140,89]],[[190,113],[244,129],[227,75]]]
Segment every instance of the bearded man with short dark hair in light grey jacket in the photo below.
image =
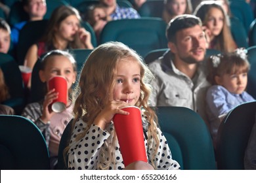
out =
[[155,75],[150,96],[152,106],[188,107],[207,122],[205,76],[207,41],[200,18],[182,14],[173,18],[166,31],[169,52],[150,63]]

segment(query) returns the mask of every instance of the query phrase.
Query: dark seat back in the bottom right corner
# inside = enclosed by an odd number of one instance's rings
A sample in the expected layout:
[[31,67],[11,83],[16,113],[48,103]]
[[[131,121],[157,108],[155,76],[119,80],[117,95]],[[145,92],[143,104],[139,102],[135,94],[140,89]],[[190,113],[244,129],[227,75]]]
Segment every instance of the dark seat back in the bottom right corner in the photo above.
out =
[[218,131],[218,169],[244,169],[244,152],[255,122],[255,114],[256,101],[238,105],[228,112]]

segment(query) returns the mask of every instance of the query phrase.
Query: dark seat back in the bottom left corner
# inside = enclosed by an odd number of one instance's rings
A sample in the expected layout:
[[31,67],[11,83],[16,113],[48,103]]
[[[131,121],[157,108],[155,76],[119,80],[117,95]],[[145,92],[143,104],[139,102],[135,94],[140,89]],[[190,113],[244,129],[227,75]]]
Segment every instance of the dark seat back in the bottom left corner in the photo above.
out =
[[0,115],[0,169],[50,169],[45,139],[27,118]]

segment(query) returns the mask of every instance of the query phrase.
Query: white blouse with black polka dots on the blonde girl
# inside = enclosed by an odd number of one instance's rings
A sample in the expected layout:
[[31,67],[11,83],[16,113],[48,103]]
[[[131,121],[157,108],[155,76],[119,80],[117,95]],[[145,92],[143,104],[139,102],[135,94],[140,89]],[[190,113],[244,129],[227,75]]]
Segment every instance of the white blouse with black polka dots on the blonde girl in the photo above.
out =
[[[145,122],[145,118],[142,118],[143,122]],[[108,154],[104,156],[101,154],[101,148],[104,147],[104,141],[108,138],[112,138],[110,135],[110,131],[114,130],[114,124],[111,122],[110,125],[105,130],[100,129],[97,125],[91,125],[89,131],[83,139],[79,141],[75,141],[75,137],[77,134],[84,131],[86,124],[79,120],[75,123],[74,131],[72,133],[72,138],[70,140],[70,150],[68,152],[68,168],[69,169],[88,169],[88,170],[95,170],[98,167],[98,163],[100,165],[104,165],[104,162],[100,161],[100,157],[105,157],[109,159]],[[179,163],[171,158],[171,151],[167,144],[163,133],[161,130],[157,128],[158,133],[160,134],[160,147],[158,149],[158,153],[156,157],[153,159],[153,163],[156,165],[157,169],[161,170],[168,170],[168,169],[180,169]],[[150,137],[149,137],[150,138]],[[146,152],[148,159],[150,156],[153,156],[154,152],[152,148],[148,146],[147,140],[144,137],[144,144],[146,147]],[[153,144],[153,147],[155,144]],[[123,158],[121,156],[121,152],[119,150],[119,144],[117,141],[116,145],[116,165],[114,163],[110,164],[109,169],[123,169],[125,166],[123,164]],[[150,160],[148,160],[150,161]],[[151,162],[149,162],[152,164]]]

